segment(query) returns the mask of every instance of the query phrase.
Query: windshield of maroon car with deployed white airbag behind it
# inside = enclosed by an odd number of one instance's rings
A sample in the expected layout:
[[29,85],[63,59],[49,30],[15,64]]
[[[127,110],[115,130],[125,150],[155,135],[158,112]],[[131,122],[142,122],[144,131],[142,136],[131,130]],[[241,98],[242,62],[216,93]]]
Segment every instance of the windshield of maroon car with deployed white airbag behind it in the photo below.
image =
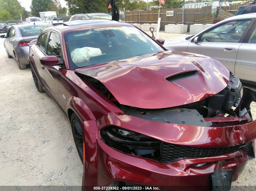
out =
[[133,26],[65,33],[65,40],[71,69],[164,51]]

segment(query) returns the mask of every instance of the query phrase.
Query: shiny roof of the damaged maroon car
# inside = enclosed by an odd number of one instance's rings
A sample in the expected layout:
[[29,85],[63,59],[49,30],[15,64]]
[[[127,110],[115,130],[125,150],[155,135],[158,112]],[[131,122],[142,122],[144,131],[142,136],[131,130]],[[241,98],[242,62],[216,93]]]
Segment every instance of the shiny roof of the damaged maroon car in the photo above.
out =
[[114,27],[114,26],[132,26],[130,23],[111,21],[107,19],[91,19],[64,22],[63,25],[50,27],[49,29],[68,33],[78,29],[86,30],[92,28]]

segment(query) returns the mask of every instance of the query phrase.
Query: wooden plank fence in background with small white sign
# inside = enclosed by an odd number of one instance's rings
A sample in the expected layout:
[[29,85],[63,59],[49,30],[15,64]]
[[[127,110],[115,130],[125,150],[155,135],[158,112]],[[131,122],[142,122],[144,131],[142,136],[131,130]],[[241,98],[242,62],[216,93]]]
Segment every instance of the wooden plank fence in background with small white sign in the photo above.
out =
[[[158,20],[158,9],[151,11],[126,11],[125,21],[129,23],[139,24],[157,24]],[[173,16],[166,16],[166,11],[173,11]],[[194,20],[197,18],[212,16],[211,6],[195,9],[184,9],[183,20],[182,20],[183,9],[160,9],[160,30],[165,29],[167,24],[187,24],[188,29],[191,24],[194,24]]]

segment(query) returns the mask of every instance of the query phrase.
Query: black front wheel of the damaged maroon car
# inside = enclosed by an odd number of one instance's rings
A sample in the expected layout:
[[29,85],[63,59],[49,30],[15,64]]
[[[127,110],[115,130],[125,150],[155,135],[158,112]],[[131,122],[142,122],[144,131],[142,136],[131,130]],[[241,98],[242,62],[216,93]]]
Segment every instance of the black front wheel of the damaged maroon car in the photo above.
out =
[[73,138],[75,141],[75,146],[76,146],[79,158],[83,163],[83,160],[84,160],[83,132],[82,132],[81,121],[75,113],[71,115],[71,129],[72,129],[72,134],[73,134]]

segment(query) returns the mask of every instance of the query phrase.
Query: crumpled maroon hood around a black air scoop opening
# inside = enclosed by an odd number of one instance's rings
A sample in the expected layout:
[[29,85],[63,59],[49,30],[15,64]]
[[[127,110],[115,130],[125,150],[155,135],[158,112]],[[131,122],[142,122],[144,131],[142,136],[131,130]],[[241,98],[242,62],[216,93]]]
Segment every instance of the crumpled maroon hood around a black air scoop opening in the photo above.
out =
[[[167,77],[186,71],[197,75],[178,81]],[[229,71],[209,57],[165,51],[75,70],[96,78],[120,104],[147,108],[175,107],[202,100],[223,90]]]

